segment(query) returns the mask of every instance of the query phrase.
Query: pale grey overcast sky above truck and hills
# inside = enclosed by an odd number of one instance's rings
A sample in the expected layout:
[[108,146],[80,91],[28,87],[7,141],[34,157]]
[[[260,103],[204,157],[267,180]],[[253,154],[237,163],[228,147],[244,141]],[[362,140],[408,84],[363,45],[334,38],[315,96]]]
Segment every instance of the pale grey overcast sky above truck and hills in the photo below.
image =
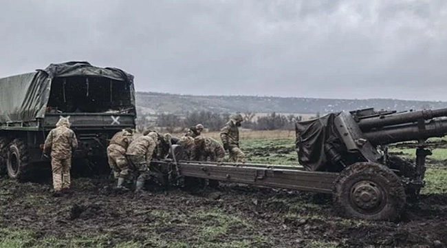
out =
[[447,101],[447,1],[2,1],[0,77],[63,61],[138,91]]

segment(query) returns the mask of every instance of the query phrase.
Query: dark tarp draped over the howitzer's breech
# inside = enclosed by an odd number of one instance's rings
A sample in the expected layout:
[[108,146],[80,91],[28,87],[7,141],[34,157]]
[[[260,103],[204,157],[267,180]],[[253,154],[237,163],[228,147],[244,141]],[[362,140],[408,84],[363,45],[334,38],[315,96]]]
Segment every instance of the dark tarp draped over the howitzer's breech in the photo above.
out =
[[334,119],[340,113],[331,113],[309,121],[295,124],[296,151],[298,161],[305,169],[325,172],[330,164],[326,156],[325,144],[338,138]]

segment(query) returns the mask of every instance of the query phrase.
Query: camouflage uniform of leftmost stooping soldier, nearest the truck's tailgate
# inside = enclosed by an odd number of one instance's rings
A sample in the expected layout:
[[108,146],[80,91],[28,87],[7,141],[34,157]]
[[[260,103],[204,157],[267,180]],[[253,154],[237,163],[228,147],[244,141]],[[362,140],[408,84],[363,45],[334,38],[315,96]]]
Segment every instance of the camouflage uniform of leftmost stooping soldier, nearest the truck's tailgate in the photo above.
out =
[[122,130],[110,140],[107,147],[107,158],[109,160],[109,166],[113,171],[113,176],[118,178],[120,172],[127,174],[129,171],[129,164],[126,160],[126,150],[129,144],[132,142],[132,130]]

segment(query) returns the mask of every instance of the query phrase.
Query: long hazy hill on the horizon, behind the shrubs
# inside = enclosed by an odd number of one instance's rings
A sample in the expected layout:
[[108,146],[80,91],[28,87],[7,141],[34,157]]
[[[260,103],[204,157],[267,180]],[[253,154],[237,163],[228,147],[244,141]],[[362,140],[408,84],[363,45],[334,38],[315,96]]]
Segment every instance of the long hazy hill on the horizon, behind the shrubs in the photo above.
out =
[[375,107],[378,110],[421,110],[447,107],[441,101],[398,99],[310,99],[270,96],[192,96],[155,92],[137,92],[138,112],[142,114],[185,114],[195,110],[218,113],[296,113],[316,114]]

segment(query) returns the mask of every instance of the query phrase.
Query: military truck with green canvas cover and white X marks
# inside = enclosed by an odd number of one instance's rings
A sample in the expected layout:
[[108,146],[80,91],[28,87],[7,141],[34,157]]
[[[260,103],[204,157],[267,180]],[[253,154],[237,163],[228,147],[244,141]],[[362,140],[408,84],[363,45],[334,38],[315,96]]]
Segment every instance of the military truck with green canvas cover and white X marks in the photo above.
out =
[[70,61],[0,79],[0,171],[27,180],[48,168],[43,143],[61,116],[69,118],[79,142],[74,169],[79,162],[92,173],[104,172],[109,138],[135,128],[133,75]]

